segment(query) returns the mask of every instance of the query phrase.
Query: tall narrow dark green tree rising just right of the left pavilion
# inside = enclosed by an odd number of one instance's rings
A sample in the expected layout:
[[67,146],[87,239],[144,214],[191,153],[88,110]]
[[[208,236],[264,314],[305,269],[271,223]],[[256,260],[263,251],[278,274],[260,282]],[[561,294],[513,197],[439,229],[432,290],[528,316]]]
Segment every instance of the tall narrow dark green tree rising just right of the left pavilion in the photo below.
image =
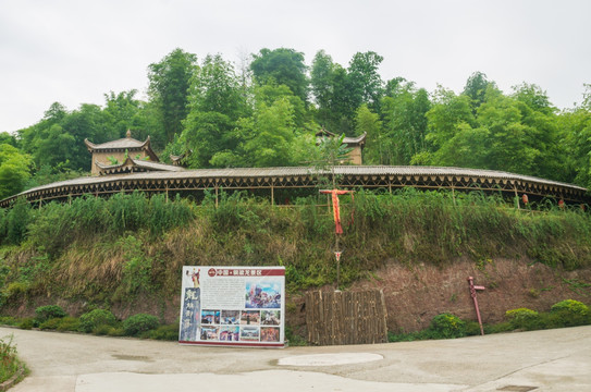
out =
[[148,93],[157,105],[168,142],[172,142],[174,135],[182,132],[182,121],[188,112],[188,88],[196,61],[195,54],[176,48],[160,62],[148,66]]

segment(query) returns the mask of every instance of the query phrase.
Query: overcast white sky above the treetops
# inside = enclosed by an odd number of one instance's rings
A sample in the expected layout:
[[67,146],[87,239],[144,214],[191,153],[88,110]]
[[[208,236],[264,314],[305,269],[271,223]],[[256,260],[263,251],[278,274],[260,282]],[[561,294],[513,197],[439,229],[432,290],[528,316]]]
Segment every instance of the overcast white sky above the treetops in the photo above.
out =
[[0,132],[38,122],[59,101],[104,103],[148,86],[174,48],[238,62],[261,48],[320,49],[344,66],[384,58],[384,81],[460,91],[475,71],[505,93],[539,85],[558,108],[591,83],[589,0],[0,0]]

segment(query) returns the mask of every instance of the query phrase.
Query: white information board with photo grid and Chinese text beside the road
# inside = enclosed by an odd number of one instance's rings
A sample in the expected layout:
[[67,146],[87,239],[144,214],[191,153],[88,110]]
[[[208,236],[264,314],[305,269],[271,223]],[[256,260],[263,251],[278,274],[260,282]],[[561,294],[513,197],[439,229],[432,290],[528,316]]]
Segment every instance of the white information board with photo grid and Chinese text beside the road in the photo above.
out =
[[284,267],[183,267],[182,344],[284,347]]

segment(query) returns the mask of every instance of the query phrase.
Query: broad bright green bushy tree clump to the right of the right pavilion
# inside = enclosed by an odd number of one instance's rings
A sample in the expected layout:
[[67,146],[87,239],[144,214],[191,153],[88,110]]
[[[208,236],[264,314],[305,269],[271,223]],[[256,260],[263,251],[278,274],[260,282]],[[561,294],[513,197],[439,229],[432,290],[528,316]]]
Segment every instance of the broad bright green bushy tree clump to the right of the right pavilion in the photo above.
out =
[[522,85],[512,96],[489,84],[482,103],[470,111],[470,98],[441,90],[427,113],[432,149],[415,161],[505,170],[562,180],[568,173],[558,157],[556,119],[541,90]]

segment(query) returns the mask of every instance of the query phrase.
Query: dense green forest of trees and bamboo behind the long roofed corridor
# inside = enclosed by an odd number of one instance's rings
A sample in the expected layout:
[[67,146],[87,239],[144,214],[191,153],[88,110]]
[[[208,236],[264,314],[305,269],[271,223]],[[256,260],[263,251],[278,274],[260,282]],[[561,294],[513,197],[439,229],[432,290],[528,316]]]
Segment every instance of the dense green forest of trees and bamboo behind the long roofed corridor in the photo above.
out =
[[[384,81],[383,58],[358,52],[348,64],[319,51],[261,49],[236,66],[220,54],[175,49],[147,66],[148,99],[109,91],[102,106],[64,108],[14,134],[0,134],[0,198],[88,172],[84,139],[103,143],[132,130],[165,160],[190,151],[189,168],[309,164],[315,132],[367,133],[366,164],[495,169],[591,185],[591,87],[581,103],[553,107],[527,81],[502,91],[481,72],[464,90],[427,91]],[[436,69],[433,70],[436,73]],[[140,87],[140,86],[138,86]]]

